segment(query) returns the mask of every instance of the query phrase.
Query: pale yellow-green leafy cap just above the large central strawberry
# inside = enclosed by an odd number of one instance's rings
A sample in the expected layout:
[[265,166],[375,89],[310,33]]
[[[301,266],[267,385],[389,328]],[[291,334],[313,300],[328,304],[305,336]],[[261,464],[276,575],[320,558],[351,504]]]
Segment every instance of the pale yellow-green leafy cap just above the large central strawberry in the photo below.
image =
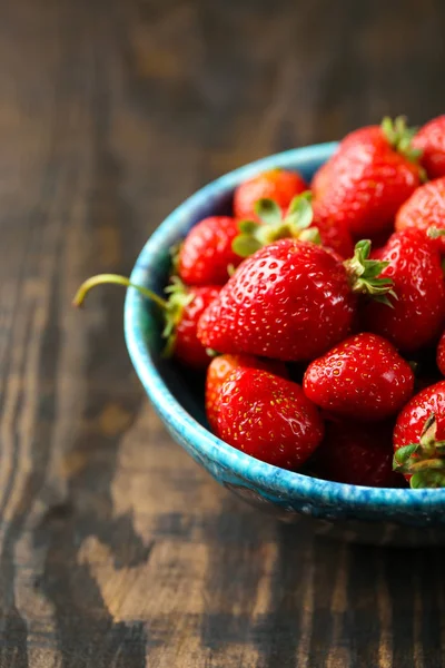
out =
[[317,227],[310,227],[313,222],[312,193],[307,190],[291,200],[287,214],[273,199],[258,199],[255,213],[261,223],[241,220],[239,235],[233,242],[234,252],[240,257],[248,257],[259,248],[278,239],[296,238],[304,242],[320,244]]

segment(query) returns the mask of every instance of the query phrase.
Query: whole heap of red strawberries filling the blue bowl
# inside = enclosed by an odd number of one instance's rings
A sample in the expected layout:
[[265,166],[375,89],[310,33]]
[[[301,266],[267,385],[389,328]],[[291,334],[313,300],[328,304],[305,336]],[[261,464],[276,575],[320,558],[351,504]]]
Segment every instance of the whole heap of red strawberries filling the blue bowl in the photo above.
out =
[[310,186],[284,169],[239,185],[233,216],[176,249],[168,299],[141,292],[168,352],[206,371],[209,425],[234,448],[344,483],[438,488],[444,255],[445,116],[417,132],[384,119]]

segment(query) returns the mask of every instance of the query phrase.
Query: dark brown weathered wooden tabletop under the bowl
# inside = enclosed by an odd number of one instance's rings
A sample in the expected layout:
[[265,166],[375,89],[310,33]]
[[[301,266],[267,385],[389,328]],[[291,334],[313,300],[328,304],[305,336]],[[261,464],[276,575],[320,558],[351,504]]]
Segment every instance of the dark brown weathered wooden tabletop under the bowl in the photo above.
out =
[[443,0],[13,0],[0,20],[0,667],[435,668],[445,552],[314,539],[174,444],[128,273],[201,184],[445,110]]

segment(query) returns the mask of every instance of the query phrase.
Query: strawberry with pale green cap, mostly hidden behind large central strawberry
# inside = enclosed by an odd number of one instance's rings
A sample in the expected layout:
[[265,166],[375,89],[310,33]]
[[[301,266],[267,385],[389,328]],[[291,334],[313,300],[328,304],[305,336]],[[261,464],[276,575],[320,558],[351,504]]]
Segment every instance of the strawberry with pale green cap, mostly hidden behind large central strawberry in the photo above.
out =
[[290,202],[286,214],[273,199],[258,199],[255,204],[256,219],[241,220],[240,234],[235,238],[233,248],[243,257],[248,257],[255,250],[273,242],[284,238],[312,240],[316,244],[336,250],[346,259],[354,253],[353,239],[346,227],[326,225],[314,220],[312,193],[306,190],[296,195]]

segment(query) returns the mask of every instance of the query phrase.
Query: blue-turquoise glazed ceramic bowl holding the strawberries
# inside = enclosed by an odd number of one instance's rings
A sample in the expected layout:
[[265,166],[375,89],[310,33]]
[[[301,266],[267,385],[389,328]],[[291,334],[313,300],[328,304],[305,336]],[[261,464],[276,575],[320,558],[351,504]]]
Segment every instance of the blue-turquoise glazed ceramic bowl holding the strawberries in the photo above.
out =
[[[234,188],[270,169],[298,169],[308,180],[335,144],[293,149],[236,169],[198,190],[156,229],[138,257],[131,281],[161,293],[169,247],[201,218],[230,212]],[[127,293],[125,331],[135,369],[172,438],[222,485],[259,509],[314,530],[380,544],[445,542],[445,489],[377,489],[293,473],[227,445],[207,429],[201,383],[160,355],[156,307],[136,289]]]

